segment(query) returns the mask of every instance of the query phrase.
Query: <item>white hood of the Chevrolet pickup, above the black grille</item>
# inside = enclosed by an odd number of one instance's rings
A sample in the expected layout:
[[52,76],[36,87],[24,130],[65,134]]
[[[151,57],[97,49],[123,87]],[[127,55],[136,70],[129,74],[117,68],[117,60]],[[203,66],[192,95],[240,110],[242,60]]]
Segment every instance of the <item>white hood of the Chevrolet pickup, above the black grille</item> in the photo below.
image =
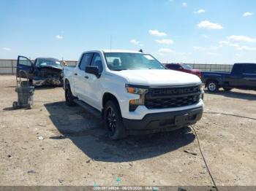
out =
[[181,71],[168,69],[140,69],[113,71],[132,85],[192,85],[201,83],[199,77]]

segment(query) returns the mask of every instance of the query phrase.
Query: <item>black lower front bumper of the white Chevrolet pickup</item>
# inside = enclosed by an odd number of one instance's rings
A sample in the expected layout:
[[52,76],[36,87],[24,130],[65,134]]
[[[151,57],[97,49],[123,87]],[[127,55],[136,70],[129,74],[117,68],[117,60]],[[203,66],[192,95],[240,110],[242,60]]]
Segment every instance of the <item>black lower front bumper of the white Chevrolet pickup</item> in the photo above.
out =
[[146,114],[142,120],[123,118],[124,127],[129,135],[171,131],[193,125],[201,119],[203,107],[175,112]]

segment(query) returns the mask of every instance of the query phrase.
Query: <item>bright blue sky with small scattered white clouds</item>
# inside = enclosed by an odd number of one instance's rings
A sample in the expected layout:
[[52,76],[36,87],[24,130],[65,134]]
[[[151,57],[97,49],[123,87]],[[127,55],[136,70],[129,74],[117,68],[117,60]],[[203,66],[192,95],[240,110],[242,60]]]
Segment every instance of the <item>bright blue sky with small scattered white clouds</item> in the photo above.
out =
[[256,62],[255,0],[0,0],[0,58],[77,60],[139,50],[159,61]]

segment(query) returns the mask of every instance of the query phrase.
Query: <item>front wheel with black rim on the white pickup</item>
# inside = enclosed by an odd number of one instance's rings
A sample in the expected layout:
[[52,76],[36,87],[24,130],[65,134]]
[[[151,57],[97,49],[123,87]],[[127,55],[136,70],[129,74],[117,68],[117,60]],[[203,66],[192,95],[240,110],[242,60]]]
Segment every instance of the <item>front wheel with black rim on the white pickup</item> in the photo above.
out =
[[104,122],[110,139],[124,139],[127,136],[121,112],[116,101],[108,101],[104,107]]

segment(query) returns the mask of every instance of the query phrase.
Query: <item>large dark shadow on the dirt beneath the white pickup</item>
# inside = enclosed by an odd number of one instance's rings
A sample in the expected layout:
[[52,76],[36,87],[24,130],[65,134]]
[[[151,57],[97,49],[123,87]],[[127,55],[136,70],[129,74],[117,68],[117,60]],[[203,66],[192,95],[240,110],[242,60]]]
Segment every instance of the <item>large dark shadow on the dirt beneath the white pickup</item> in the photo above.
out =
[[195,135],[190,128],[147,136],[129,136],[111,141],[102,122],[87,114],[79,106],[68,107],[64,102],[45,104],[50,120],[61,135],[50,137],[56,141],[70,139],[93,160],[127,162],[163,155],[190,144]]

